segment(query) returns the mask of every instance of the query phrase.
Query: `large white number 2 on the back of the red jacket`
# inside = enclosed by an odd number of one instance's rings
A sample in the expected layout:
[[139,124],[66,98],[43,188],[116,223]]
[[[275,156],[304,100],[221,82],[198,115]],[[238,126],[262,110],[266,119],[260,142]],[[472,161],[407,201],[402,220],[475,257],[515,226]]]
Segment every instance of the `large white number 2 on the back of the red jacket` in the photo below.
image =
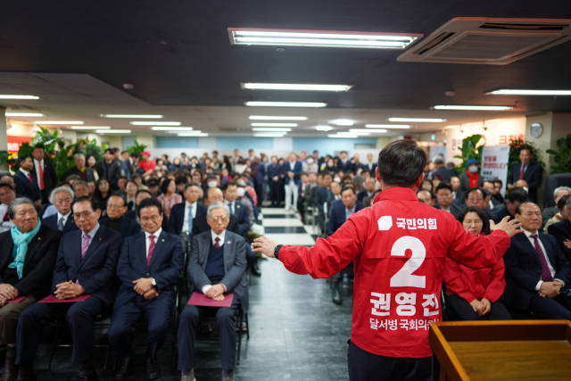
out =
[[426,288],[426,277],[412,275],[425,261],[426,248],[425,245],[417,237],[401,236],[397,239],[391,249],[392,257],[404,257],[407,249],[410,249],[412,256],[404,266],[391,277],[391,287],[418,287]]

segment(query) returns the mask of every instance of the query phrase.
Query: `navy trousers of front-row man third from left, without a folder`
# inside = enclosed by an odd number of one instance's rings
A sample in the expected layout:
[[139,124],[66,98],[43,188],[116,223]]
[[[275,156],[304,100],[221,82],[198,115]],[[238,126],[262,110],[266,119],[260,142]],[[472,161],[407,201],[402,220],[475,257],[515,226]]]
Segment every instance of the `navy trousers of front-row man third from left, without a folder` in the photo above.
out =
[[145,316],[148,323],[147,353],[153,360],[156,359],[156,353],[167,340],[170,308],[158,298],[147,301],[142,295],[137,295],[130,302],[113,311],[109,327],[109,343],[117,348],[120,362],[134,354],[131,344],[131,327],[137,323],[141,315]]

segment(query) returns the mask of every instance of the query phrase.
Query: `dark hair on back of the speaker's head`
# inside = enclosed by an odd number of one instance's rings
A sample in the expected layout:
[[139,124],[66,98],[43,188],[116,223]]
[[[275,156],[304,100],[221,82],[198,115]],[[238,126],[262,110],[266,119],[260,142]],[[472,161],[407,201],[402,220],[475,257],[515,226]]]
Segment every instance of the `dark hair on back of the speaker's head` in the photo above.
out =
[[426,167],[426,153],[412,140],[396,140],[378,153],[377,168],[388,186],[414,186]]

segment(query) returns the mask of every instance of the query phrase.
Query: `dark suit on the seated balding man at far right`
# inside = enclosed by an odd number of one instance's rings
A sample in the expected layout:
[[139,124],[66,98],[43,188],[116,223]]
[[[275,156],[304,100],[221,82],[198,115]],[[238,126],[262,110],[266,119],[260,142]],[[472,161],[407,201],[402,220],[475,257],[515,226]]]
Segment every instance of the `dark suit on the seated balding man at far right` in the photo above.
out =
[[[560,279],[566,286],[571,280],[571,269],[559,244],[553,236],[538,234],[551,267],[554,279]],[[511,238],[511,245],[504,254],[506,263],[506,304],[518,310],[533,311],[540,319],[571,319],[571,299],[560,294],[553,299],[542,297],[536,291],[542,279],[542,263],[535,247],[525,233]]]

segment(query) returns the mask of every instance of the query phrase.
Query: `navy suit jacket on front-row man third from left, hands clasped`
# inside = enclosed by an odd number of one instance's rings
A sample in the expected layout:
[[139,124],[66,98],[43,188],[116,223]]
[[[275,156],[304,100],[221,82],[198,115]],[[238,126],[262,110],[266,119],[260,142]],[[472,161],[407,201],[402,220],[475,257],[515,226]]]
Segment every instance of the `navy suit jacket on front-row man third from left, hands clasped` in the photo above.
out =
[[149,266],[146,265],[145,240],[145,233],[141,232],[137,236],[129,236],[123,242],[117,265],[120,286],[113,310],[138,295],[133,289],[133,281],[141,277],[153,277],[157,282],[156,288],[160,291],[156,299],[171,311],[175,308],[175,285],[182,276],[185,261],[180,238],[161,231],[161,235],[156,238]]

